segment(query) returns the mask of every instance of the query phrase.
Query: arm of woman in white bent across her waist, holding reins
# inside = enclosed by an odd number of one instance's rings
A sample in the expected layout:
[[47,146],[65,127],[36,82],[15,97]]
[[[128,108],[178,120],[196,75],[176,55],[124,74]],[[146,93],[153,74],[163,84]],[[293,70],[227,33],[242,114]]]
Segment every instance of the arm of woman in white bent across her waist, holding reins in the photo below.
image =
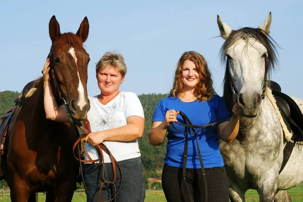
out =
[[96,146],[104,141],[129,142],[142,137],[144,131],[144,118],[130,116],[126,119],[127,124],[114,129],[89,133],[84,141]]

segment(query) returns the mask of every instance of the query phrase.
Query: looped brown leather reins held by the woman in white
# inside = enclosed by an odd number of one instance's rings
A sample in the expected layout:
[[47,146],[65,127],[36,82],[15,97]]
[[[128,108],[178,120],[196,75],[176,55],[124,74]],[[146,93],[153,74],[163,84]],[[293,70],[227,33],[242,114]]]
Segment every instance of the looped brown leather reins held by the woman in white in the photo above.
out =
[[[89,122],[87,119],[84,120],[84,125],[86,128],[83,127],[83,125],[79,122],[79,121],[74,121],[74,124],[75,126],[78,126],[79,128],[81,128],[85,134],[83,134],[77,141],[76,143],[74,144],[73,146],[73,155],[74,157],[79,161],[79,164],[80,164],[80,172],[81,172],[81,177],[82,177],[82,181],[83,181],[83,185],[84,185],[84,188],[87,192],[87,194],[93,199],[93,200],[96,200],[96,201],[99,201],[99,202],[109,202],[109,201],[116,201],[116,196],[118,195],[120,189],[121,189],[121,186],[122,186],[122,169],[121,167],[119,166],[117,160],[114,158],[114,156],[112,155],[112,153],[110,152],[110,150],[103,144],[99,144],[99,145],[96,145],[96,151],[98,153],[98,156],[99,158],[96,159],[96,160],[92,160],[91,157],[89,156],[88,152],[86,151],[85,149],[85,143],[84,141],[82,142],[82,145],[83,145],[83,149],[84,149],[84,153],[85,155],[87,156],[87,158],[89,160],[82,160],[81,157],[80,157],[80,147],[79,147],[79,143],[81,142],[81,140],[83,138],[85,138],[87,136],[87,134],[89,134],[91,132],[90,130],[90,125],[89,125]],[[79,132],[77,130],[77,132]],[[78,157],[75,155],[75,148],[77,147],[77,150],[78,150]],[[108,179],[108,177],[105,177],[105,163],[104,163],[104,155],[103,155],[103,151],[106,152],[110,158],[111,158],[111,161],[112,161],[112,167],[113,167],[113,175],[114,175],[114,179],[113,181],[110,181]],[[97,161],[100,161],[101,163],[100,164],[97,164],[95,162]],[[92,163],[94,166],[102,166],[103,167],[103,181],[100,183],[100,188],[99,188],[99,194],[98,194],[98,199],[95,199],[94,197],[92,197],[90,195],[90,193],[87,191],[87,188],[85,186],[85,182],[84,182],[84,177],[83,177],[83,168],[82,168],[82,163]],[[115,185],[115,182],[116,182],[116,179],[117,179],[117,170],[116,170],[116,166],[118,167],[119,171],[120,171],[120,176],[121,176],[121,181],[120,181],[120,184],[119,184],[119,188],[118,190],[116,191],[116,185]],[[110,199],[110,200],[101,200],[101,192],[102,192],[102,187],[105,185],[105,184],[112,184],[115,188],[115,196]]]

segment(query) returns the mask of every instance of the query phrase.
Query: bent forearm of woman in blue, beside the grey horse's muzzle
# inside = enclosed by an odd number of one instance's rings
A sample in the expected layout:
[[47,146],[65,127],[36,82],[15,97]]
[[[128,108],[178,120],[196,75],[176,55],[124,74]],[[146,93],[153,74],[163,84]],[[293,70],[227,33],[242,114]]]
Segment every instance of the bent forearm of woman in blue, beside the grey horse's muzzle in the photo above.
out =
[[233,115],[229,121],[225,121],[218,125],[219,135],[221,139],[227,143],[231,143],[237,137],[239,132],[240,107],[236,101],[233,106],[232,112]]

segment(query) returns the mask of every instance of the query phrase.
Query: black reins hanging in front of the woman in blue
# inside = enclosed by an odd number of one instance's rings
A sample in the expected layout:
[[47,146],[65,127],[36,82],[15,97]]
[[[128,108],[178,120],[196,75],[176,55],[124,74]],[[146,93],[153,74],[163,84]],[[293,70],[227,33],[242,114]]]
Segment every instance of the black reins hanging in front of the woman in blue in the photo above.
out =
[[[189,120],[189,118],[186,116],[185,113],[183,113],[182,111],[179,111],[180,115],[182,116],[183,118],[183,122],[184,123],[178,123],[178,122],[172,122],[172,126],[177,130],[179,131],[180,133],[182,134],[185,134],[185,145],[184,145],[184,155],[183,155],[183,172],[182,172],[182,175],[183,175],[183,181],[184,181],[184,184],[185,184],[185,187],[186,187],[186,190],[188,192],[188,195],[189,195],[189,199],[191,202],[193,202],[193,198],[192,198],[192,195],[190,194],[190,191],[186,185],[186,181],[185,181],[185,175],[186,175],[186,162],[187,162],[187,150],[188,150],[188,136],[194,134],[194,137],[195,137],[195,141],[196,141],[196,145],[197,145],[197,152],[198,152],[198,156],[199,156],[199,161],[200,161],[200,165],[201,165],[201,170],[202,170],[202,174],[203,174],[203,179],[204,179],[204,186],[205,186],[205,201],[207,202],[208,201],[208,188],[207,188],[207,177],[206,177],[206,172],[205,172],[205,168],[204,168],[204,165],[203,165],[203,161],[202,161],[202,158],[201,158],[201,154],[200,154],[200,149],[199,149],[199,145],[198,145],[198,140],[197,140],[197,133],[202,131],[202,130],[205,130],[206,128],[210,127],[210,126],[215,126],[216,124],[218,124],[219,122],[225,120],[226,118],[232,116],[233,113],[230,113],[229,115],[217,120],[216,122],[214,123],[209,123],[209,124],[206,124],[206,125],[193,125],[191,123],[191,121]],[[185,127],[185,132],[181,132],[179,129],[177,129],[177,127],[174,125],[174,123],[178,124],[178,125],[181,125],[181,126],[184,126]],[[199,130],[195,131],[195,128],[200,128]],[[192,129],[193,132],[189,132],[189,128]]]

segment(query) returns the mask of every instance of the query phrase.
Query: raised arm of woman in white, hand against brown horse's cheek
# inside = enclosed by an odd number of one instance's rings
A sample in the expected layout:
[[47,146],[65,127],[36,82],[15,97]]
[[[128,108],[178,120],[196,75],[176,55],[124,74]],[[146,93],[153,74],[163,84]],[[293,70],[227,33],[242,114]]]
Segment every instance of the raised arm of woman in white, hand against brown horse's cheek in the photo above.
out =
[[70,117],[62,107],[58,107],[57,102],[54,98],[50,78],[49,78],[49,64],[50,61],[47,58],[43,67],[43,94],[44,94],[44,111],[47,119],[58,121],[58,122],[69,122]]

